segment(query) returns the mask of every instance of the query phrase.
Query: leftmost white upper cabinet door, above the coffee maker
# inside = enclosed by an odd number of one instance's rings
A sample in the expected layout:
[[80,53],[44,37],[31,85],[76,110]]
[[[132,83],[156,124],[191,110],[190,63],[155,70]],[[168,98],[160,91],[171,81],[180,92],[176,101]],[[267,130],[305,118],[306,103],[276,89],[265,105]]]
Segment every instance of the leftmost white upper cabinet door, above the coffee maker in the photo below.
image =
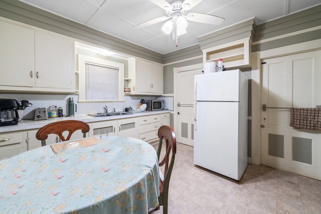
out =
[[0,85],[33,87],[34,30],[2,20],[0,29]]

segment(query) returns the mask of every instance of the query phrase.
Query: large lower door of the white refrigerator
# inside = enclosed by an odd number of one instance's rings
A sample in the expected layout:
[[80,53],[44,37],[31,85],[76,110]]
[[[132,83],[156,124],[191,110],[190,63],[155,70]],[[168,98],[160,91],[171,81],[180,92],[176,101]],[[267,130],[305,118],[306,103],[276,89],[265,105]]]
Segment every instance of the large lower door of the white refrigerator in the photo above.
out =
[[194,163],[238,180],[239,103],[196,102]]

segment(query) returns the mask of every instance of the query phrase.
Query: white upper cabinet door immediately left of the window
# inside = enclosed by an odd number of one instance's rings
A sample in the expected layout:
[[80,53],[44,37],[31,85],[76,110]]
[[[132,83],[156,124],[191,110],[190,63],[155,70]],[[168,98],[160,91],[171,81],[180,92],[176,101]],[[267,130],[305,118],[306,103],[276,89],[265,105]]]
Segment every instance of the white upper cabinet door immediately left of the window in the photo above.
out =
[[73,50],[71,40],[35,32],[35,87],[74,89]]

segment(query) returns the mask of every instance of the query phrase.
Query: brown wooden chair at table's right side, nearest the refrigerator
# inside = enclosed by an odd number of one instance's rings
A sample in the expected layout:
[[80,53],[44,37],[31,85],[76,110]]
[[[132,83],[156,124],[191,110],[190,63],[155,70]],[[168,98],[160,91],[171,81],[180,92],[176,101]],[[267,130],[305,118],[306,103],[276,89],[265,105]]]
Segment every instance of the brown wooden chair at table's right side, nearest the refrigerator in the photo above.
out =
[[[176,154],[176,136],[171,126],[161,126],[158,129],[158,137],[159,144],[157,148],[157,157],[159,160],[159,166],[163,166],[165,164],[164,180],[160,179],[159,192],[161,194],[158,197],[158,202],[159,205],[163,205],[163,213],[167,214],[169,185]],[[166,142],[166,153],[163,160],[161,161],[159,157],[161,156],[163,140]],[[157,206],[156,209],[159,209],[159,206]]]

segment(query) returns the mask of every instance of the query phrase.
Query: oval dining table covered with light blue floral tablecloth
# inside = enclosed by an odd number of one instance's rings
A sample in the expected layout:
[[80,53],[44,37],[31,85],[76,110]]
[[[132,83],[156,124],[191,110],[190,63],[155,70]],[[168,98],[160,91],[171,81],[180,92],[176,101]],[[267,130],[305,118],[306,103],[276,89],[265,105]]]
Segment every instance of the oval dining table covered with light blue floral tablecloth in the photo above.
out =
[[147,142],[95,136],[0,161],[0,213],[148,213],[159,168]]

